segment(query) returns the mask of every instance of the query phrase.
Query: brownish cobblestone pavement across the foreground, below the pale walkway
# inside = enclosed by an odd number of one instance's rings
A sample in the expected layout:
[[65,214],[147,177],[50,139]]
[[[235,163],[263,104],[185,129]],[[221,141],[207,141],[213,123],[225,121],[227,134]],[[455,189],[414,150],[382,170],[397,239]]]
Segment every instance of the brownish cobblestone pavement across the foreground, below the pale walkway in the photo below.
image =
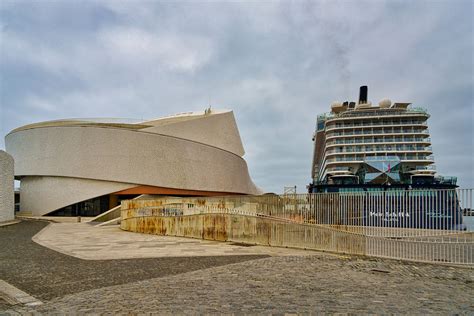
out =
[[474,314],[473,269],[312,254],[128,278],[9,313]]

